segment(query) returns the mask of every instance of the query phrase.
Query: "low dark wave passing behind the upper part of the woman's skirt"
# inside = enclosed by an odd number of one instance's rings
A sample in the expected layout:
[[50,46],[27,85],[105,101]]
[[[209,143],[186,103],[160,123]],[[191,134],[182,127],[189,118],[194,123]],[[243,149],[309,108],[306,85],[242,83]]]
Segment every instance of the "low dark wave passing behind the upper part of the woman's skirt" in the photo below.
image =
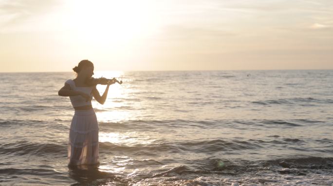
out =
[[[129,108],[124,108],[129,109]],[[109,109],[95,109],[96,112],[110,111]],[[181,110],[179,110],[181,111]],[[72,115],[71,115],[72,116]],[[70,122],[70,120],[55,119],[54,122]],[[306,119],[294,119],[294,120],[127,120],[121,122],[98,122],[101,127],[113,129],[127,129],[136,128],[138,130],[151,129],[152,127],[169,128],[244,128],[245,126],[259,126],[264,128],[272,127],[298,127],[309,124],[326,124],[319,120],[306,120]],[[0,119],[0,127],[16,127],[16,125],[38,125],[45,126],[50,124],[50,121],[39,120],[3,120]],[[51,126],[50,127],[56,127]]]

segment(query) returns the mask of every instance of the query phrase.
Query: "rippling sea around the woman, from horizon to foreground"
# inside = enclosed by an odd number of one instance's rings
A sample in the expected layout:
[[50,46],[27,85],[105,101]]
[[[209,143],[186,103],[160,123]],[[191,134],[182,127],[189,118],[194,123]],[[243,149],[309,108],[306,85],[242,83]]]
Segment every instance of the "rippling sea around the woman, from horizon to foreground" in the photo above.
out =
[[124,83],[92,100],[100,165],[79,168],[74,73],[0,73],[0,185],[333,185],[333,70],[94,73]]

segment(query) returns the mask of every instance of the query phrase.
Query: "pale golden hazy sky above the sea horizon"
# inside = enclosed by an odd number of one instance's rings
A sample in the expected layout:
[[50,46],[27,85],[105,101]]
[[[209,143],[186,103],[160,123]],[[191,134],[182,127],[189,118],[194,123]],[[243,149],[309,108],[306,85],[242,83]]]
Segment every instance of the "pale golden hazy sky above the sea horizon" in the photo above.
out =
[[333,0],[0,0],[0,72],[333,69]]

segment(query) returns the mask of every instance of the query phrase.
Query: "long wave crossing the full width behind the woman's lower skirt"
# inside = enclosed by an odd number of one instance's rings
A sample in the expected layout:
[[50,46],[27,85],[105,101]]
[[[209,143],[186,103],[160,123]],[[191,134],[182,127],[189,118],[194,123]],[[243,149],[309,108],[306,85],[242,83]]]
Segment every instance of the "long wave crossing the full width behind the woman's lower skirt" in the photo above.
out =
[[[225,155],[240,155],[240,153],[254,153],[271,148],[285,148],[291,151],[308,151],[306,144],[312,141],[312,144],[323,144],[324,146],[312,149],[313,152],[332,153],[333,140],[330,139],[298,139],[298,138],[280,138],[279,136],[269,136],[274,138],[264,139],[197,139],[197,140],[153,140],[149,144],[141,143],[112,143],[99,142],[100,151],[108,154],[126,154],[158,157],[161,153],[167,154],[187,154],[204,153],[214,155],[224,153]],[[310,141],[309,141],[310,140]],[[305,145],[305,146],[304,146]],[[37,156],[65,156],[67,142],[60,143],[36,143],[29,141],[15,141],[3,143],[0,145],[1,155],[37,155]]]

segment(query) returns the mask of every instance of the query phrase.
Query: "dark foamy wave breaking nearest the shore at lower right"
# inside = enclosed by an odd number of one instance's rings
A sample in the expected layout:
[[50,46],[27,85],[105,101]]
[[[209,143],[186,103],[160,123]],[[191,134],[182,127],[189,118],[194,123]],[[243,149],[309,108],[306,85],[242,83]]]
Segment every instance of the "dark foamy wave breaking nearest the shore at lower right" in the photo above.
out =
[[[284,168],[288,168],[289,170],[287,171]],[[258,171],[276,171],[280,174],[290,173],[294,175],[305,175],[311,170],[332,171],[333,158],[312,156],[295,159],[282,158],[267,161],[247,161],[207,157],[203,159],[185,160],[183,165],[164,170],[160,169],[159,172],[155,173],[152,177],[212,173],[220,175],[237,175],[251,174]]]

